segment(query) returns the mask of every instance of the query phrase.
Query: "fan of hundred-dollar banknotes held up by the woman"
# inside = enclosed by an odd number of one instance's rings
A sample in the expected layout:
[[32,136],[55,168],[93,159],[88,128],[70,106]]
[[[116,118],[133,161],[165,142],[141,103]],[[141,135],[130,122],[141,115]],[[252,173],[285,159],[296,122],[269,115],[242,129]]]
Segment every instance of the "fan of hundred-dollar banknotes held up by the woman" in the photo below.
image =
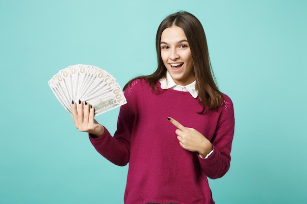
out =
[[[95,116],[127,103],[115,78],[91,65],[74,65],[60,70],[48,82],[62,106],[72,114],[72,101],[91,104]],[[77,103],[78,105],[78,103]]]

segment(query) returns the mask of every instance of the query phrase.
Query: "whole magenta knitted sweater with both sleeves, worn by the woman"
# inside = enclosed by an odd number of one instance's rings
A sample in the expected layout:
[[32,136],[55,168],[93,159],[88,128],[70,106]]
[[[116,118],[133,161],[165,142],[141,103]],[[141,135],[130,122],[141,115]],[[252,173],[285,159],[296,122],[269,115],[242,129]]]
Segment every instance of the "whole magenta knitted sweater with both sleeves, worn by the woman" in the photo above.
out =
[[[234,134],[233,105],[224,94],[224,105],[198,114],[202,104],[189,92],[151,91],[143,80],[135,80],[125,91],[114,136],[105,129],[90,140],[96,150],[116,165],[129,162],[125,204],[176,203],[214,204],[207,177],[222,177],[230,167]],[[179,145],[167,120],[173,117],[185,127],[202,133],[213,146],[213,154],[202,159]]]

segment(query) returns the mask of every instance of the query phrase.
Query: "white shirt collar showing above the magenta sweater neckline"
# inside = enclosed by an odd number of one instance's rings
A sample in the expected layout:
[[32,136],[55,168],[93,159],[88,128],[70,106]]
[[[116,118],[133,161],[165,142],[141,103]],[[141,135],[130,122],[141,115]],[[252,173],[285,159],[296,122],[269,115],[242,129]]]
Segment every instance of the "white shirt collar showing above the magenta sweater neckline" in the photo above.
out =
[[176,84],[171,77],[171,74],[166,71],[166,77],[161,78],[159,82],[161,84],[161,89],[173,89],[177,91],[189,92],[193,96],[193,98],[197,98],[198,96],[198,91],[195,89],[196,81],[186,86],[181,86]]

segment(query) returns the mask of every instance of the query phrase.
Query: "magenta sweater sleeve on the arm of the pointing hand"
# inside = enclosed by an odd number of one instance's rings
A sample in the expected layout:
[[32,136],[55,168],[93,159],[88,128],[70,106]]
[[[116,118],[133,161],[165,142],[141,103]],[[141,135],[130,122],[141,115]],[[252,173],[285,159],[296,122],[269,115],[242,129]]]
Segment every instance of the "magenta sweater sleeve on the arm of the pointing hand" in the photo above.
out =
[[213,153],[207,159],[199,157],[202,170],[211,179],[224,176],[230,168],[230,151],[234,134],[233,104],[225,95],[223,111],[217,130],[211,140]]

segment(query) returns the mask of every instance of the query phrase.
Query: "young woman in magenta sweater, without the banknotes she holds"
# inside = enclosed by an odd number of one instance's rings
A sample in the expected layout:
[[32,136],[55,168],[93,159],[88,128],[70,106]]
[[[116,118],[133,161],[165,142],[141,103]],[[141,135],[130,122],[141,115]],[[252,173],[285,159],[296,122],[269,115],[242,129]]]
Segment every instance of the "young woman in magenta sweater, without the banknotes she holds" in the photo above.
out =
[[103,157],[129,162],[125,204],[214,204],[207,177],[229,170],[234,114],[214,82],[202,24],[188,12],[168,16],[156,51],[156,71],[124,87],[114,136],[81,101],[72,106],[75,126]]

